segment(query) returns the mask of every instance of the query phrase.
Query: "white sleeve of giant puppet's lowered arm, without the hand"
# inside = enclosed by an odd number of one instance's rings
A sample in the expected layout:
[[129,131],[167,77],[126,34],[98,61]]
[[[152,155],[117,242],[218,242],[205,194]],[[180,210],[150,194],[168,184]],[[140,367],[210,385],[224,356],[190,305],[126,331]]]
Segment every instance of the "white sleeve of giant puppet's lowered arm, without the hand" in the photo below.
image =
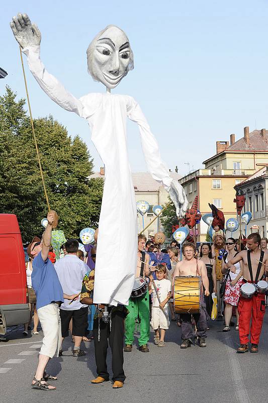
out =
[[150,126],[142,113],[140,106],[131,97],[129,97],[127,115],[131,120],[138,123],[142,151],[144,153],[148,171],[153,179],[162,182],[166,190],[169,191],[172,178],[169,176],[169,171],[166,165],[161,160],[157,141],[150,130]]

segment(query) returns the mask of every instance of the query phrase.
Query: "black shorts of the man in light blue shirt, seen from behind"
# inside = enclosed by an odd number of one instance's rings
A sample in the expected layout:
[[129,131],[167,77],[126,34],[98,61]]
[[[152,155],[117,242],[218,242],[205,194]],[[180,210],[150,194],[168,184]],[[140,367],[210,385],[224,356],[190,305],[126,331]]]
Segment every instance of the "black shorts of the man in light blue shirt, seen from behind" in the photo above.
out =
[[69,324],[71,318],[72,318],[72,335],[84,336],[85,329],[88,326],[87,315],[88,315],[87,306],[73,311],[60,309],[62,337],[68,337],[69,335]]

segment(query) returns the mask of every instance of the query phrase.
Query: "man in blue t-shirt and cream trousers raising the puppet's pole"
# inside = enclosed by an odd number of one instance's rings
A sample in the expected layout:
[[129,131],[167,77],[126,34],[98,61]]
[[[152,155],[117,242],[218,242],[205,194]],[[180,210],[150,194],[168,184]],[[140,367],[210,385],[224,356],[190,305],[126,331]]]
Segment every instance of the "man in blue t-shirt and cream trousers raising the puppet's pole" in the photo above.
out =
[[54,386],[49,385],[47,380],[57,378],[45,372],[46,365],[50,358],[58,357],[61,344],[61,322],[59,307],[64,298],[72,300],[75,295],[63,294],[57,273],[51,261],[48,259],[48,252],[51,243],[52,224],[56,212],[47,215],[48,225],[43,234],[43,239],[34,237],[28,246],[28,254],[33,259],[32,286],[36,293],[36,307],[41,327],[44,333],[43,344],[39,353],[39,361],[35,377],[32,382],[33,389],[53,390]]

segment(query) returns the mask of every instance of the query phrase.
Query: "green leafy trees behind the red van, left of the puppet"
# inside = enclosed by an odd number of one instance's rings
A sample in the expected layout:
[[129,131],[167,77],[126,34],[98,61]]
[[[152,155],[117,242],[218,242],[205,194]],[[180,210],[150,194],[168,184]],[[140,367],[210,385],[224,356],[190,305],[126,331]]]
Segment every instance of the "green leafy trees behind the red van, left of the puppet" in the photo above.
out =
[[[0,212],[18,217],[23,240],[41,234],[40,221],[47,215],[30,118],[25,100],[6,88],[0,97]],[[71,139],[53,119],[34,120],[50,207],[59,215],[58,229],[66,238],[78,238],[87,226],[97,227],[103,179],[88,179],[93,160],[84,142]]]

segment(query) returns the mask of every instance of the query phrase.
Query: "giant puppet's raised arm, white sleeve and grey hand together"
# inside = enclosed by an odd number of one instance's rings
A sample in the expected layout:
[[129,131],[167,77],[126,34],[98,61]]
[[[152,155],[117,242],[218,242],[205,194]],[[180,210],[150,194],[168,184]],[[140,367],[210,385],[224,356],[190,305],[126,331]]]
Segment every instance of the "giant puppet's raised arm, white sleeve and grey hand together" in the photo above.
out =
[[27,55],[29,69],[45,93],[62,108],[83,114],[81,101],[71,95],[60,82],[49,74],[40,59],[41,33],[35,24],[32,24],[27,14],[18,14],[13,17],[11,28],[23,52]]

